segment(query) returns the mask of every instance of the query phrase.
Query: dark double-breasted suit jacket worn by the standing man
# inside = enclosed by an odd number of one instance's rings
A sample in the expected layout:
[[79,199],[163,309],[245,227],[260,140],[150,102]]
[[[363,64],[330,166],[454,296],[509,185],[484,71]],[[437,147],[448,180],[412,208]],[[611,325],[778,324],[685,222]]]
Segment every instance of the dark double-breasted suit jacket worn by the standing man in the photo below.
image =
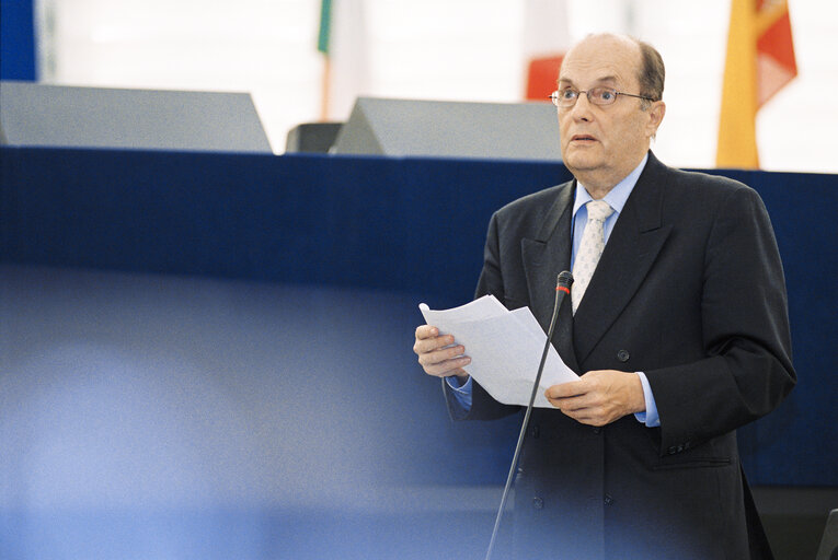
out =
[[[478,295],[529,306],[546,330],[556,273],[570,269],[574,189],[521,198],[489,226]],[[567,298],[552,342],[579,374],[645,372],[661,427],[628,416],[600,429],[533,410],[515,483],[519,557],[771,557],[735,430],[777,407],[796,376],[782,265],[753,189],[650,153],[575,317]],[[475,384],[467,418],[516,410]]]

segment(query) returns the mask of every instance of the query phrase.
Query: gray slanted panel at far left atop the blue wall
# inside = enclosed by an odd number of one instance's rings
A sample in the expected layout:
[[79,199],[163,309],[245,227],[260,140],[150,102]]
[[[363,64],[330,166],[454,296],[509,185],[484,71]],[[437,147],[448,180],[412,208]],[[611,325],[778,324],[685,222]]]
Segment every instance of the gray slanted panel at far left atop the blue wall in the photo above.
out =
[[249,93],[0,83],[11,145],[272,153]]

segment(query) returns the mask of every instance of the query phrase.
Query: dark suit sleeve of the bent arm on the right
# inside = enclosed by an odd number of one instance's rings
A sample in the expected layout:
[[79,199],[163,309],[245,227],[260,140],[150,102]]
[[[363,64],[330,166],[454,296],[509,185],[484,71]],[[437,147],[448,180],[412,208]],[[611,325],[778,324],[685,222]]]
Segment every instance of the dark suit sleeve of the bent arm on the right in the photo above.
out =
[[645,372],[661,416],[662,454],[770,412],[796,381],[783,270],[765,206],[742,186],[719,208],[704,252],[707,358]]

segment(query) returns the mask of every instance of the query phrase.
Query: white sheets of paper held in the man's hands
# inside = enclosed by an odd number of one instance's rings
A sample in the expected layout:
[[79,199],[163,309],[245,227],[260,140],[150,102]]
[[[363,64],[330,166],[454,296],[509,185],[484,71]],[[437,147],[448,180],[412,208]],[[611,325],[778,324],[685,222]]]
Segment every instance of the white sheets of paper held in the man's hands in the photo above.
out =
[[[547,334],[527,307],[509,312],[494,296],[485,295],[451,310],[420,310],[428,325],[454,335],[471,363],[466,371],[500,402],[529,404]],[[578,380],[550,346],[533,406],[553,408],[544,397],[552,385]]]

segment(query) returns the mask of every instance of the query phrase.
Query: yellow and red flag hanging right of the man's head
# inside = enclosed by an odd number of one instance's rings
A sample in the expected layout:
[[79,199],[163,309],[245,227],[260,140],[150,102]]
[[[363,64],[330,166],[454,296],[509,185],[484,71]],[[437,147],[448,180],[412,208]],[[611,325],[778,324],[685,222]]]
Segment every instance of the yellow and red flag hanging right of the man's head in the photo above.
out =
[[757,110],[795,75],[787,0],[732,0],[718,167],[759,167]]

